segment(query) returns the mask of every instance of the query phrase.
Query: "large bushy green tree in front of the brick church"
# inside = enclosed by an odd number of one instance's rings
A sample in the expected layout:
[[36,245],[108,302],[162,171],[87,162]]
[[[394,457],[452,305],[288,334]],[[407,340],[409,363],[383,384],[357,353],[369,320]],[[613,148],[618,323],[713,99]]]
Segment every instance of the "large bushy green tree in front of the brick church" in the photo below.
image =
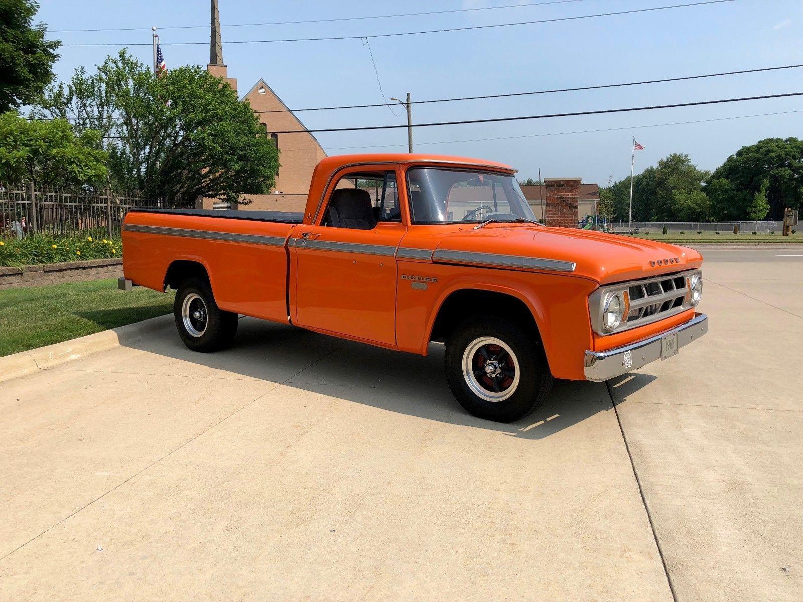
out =
[[78,69],[49,87],[38,112],[100,131],[114,187],[177,207],[267,193],[279,171],[279,151],[251,106],[201,67],[157,76],[120,51],[96,74]]

